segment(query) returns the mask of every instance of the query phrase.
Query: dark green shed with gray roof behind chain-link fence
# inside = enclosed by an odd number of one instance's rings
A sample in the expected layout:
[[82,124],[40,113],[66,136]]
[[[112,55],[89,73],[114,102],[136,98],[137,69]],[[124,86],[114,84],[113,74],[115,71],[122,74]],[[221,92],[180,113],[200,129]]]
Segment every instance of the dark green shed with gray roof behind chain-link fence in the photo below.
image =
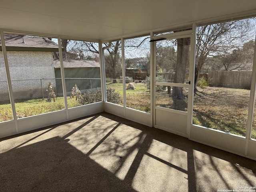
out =
[[[56,86],[62,87],[60,60],[54,60],[54,72]],[[64,59],[64,75],[66,92],[69,94],[76,84],[81,92],[91,88],[100,87],[100,63],[94,60]],[[62,89],[58,88],[58,94],[62,95]]]

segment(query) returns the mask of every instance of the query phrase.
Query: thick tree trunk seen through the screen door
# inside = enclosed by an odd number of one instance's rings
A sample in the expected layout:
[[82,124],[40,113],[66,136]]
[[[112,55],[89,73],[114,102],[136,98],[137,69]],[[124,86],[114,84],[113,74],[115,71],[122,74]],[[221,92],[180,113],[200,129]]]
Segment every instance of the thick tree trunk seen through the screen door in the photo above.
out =
[[[189,64],[189,52],[190,52],[190,38],[177,39],[177,62],[175,70],[175,83],[184,83],[186,68]],[[172,97],[176,99],[183,99],[183,88],[173,87]]]

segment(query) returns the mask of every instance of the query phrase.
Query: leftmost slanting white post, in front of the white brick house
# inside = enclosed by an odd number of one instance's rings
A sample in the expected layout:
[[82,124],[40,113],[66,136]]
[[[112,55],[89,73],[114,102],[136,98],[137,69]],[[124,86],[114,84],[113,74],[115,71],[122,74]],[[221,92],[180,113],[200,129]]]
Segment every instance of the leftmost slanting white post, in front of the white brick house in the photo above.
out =
[[5,42],[4,42],[4,32],[3,31],[0,31],[0,38],[1,38],[1,44],[2,44],[2,52],[3,52],[3,56],[4,56],[4,66],[5,66],[7,85],[8,85],[9,96],[10,96],[10,103],[12,106],[12,115],[13,115],[13,119],[15,122],[16,132],[18,133],[16,108],[15,108],[15,104],[14,104],[14,96],[13,96],[13,92],[12,92],[10,69],[9,69],[9,64],[8,64],[8,59],[7,59],[7,52],[6,52]]

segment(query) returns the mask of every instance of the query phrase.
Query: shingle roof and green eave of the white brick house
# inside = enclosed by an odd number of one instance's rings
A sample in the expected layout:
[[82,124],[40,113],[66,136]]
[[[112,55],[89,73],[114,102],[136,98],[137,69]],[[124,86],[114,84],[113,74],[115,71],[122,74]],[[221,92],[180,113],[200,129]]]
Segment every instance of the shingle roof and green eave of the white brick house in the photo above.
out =
[[[4,34],[5,46],[8,51],[49,51],[58,52],[58,44],[44,37],[16,34]],[[2,44],[0,41],[0,50]]]

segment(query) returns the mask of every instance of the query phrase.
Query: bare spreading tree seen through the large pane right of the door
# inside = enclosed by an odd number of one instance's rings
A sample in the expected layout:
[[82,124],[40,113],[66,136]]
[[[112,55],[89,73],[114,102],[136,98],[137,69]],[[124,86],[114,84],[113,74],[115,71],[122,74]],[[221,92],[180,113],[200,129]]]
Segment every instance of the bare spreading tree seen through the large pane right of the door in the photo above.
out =
[[251,39],[250,19],[234,20],[197,28],[195,90],[204,64],[212,57],[227,54]]

